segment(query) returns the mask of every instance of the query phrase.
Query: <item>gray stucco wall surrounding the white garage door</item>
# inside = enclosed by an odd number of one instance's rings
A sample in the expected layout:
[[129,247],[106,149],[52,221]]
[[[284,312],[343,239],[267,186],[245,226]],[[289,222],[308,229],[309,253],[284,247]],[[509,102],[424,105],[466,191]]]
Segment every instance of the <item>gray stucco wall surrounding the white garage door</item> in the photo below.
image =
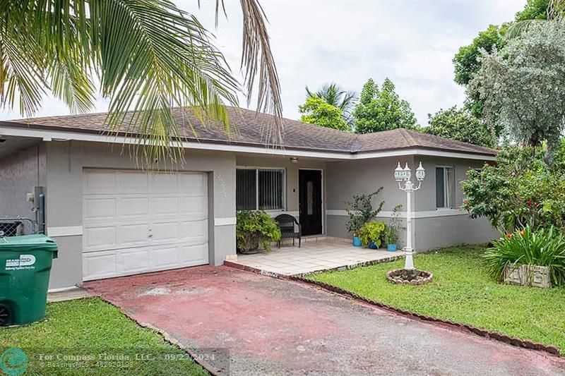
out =
[[[121,145],[100,142],[47,143],[47,233],[82,226],[83,169],[139,169]],[[160,166],[162,168],[162,166]],[[171,168],[171,167],[169,167]],[[203,171],[208,175],[210,194],[210,264],[221,265],[227,255],[235,255],[235,156],[228,152],[187,151],[177,171]],[[82,282],[82,236],[54,236],[59,244],[52,289]]]

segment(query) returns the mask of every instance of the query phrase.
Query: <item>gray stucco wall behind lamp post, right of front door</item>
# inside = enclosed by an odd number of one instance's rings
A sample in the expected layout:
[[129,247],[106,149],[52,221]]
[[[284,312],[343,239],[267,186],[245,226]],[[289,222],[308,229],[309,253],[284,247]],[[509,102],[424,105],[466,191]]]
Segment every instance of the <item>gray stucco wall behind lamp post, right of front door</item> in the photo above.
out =
[[[498,236],[486,219],[470,219],[467,214],[458,210],[436,209],[435,167],[453,166],[456,180],[455,203],[459,206],[463,201],[460,182],[466,178],[466,171],[477,168],[483,161],[473,159],[448,159],[441,157],[393,157],[383,159],[364,159],[345,162],[328,162],[327,170],[327,207],[326,216],[328,236],[349,238],[351,234],[345,230],[347,217],[345,201],[358,193],[369,193],[383,187],[381,194],[374,198],[374,205],[385,201],[383,212],[376,218],[387,222],[390,212],[398,204],[406,210],[406,194],[398,189],[393,178],[393,170],[398,162],[405,162],[412,169],[419,162],[426,169],[426,178],[422,188],[412,194],[412,207],[415,211],[412,224],[414,231],[412,243],[416,250],[429,250],[461,243],[484,243]],[[403,217],[405,214],[403,213]],[[403,221],[403,226],[405,226]],[[405,245],[405,231],[398,242]]]

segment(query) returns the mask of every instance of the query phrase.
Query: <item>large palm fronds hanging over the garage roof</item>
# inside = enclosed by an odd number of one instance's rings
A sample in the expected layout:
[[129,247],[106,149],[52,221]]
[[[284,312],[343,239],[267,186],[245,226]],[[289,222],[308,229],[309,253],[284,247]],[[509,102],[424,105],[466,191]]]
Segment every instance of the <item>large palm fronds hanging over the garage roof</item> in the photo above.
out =
[[[266,16],[258,0],[240,3],[248,104],[256,87],[257,110],[276,115],[271,136],[280,140]],[[141,134],[137,145],[151,159],[182,157],[171,107],[229,130],[225,104],[237,105],[242,88],[208,30],[170,0],[2,0],[0,16],[0,100],[22,116],[49,92],[73,113],[89,111],[99,90],[109,98],[109,131]]]

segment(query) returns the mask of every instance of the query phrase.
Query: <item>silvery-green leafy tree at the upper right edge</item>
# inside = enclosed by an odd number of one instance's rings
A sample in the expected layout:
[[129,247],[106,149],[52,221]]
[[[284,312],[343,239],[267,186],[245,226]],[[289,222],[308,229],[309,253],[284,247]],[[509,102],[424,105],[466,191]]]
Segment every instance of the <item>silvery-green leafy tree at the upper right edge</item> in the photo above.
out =
[[559,145],[565,116],[565,21],[539,23],[484,53],[480,71],[468,85],[484,101],[483,116],[499,123],[506,137],[537,146]]

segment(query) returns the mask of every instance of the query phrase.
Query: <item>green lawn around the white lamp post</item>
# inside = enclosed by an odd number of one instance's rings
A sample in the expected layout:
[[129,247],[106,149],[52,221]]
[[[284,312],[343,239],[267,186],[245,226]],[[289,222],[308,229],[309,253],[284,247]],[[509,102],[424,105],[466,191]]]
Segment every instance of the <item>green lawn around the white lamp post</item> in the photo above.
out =
[[404,260],[309,277],[396,308],[559,347],[565,353],[565,289],[499,284],[480,258],[484,247],[446,248],[415,255],[434,274],[423,286],[391,284],[386,272]]

